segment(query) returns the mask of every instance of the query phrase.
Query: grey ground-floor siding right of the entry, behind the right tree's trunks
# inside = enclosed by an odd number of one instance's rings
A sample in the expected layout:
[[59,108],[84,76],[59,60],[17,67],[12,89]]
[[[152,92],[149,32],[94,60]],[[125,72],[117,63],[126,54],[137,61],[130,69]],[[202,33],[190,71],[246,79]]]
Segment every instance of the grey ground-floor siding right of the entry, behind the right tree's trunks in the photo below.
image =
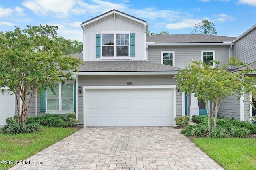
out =
[[240,120],[240,100],[237,100],[238,94],[232,97],[227,97],[222,100],[222,105],[218,110],[218,115],[223,118],[232,118],[231,115],[234,114],[236,120]]

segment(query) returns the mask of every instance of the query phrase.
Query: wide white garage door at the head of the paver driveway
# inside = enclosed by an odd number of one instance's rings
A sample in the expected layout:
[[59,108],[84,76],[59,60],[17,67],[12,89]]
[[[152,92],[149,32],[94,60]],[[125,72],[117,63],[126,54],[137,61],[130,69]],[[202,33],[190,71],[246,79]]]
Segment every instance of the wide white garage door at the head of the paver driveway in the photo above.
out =
[[86,89],[87,126],[173,126],[172,89]]

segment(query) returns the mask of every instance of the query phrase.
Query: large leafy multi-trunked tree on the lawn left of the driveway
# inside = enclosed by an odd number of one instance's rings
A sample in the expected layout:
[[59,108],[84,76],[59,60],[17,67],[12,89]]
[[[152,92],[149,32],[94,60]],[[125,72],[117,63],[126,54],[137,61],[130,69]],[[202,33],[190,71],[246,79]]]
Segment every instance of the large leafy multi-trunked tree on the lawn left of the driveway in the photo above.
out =
[[19,123],[26,122],[26,112],[36,93],[46,87],[53,91],[55,82],[72,79],[70,71],[82,64],[78,58],[61,57],[57,29],[40,25],[0,32],[0,87],[9,87],[8,91],[14,93]]

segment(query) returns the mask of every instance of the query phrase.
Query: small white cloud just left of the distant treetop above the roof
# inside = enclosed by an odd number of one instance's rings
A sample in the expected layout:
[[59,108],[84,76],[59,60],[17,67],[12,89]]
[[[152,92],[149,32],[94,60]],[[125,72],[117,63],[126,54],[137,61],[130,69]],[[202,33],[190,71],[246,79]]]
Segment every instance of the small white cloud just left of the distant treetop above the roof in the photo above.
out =
[[199,24],[200,22],[202,22],[202,20],[186,19],[186,20],[182,20],[181,22],[166,24],[166,28],[171,30],[193,28],[194,24]]

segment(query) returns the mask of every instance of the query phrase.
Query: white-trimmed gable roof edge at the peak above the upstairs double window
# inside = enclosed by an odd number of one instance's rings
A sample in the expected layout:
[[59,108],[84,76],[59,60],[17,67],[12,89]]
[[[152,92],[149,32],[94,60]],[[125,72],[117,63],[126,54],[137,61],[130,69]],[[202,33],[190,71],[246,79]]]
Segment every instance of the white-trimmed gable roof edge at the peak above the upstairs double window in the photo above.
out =
[[94,17],[94,18],[92,18],[90,20],[87,20],[87,21],[83,22],[81,26],[87,26],[87,25],[90,25],[92,23],[98,22],[99,20],[102,20],[104,18],[108,18],[109,16],[114,16],[114,15],[119,15],[119,16],[122,16],[123,18],[127,18],[129,20],[133,20],[134,22],[148,25],[148,23],[146,21],[144,21],[144,20],[142,20],[140,18],[136,18],[136,17],[131,16],[129,14],[126,14],[124,12],[121,12],[121,11],[113,9],[113,10],[110,10],[110,11],[104,13],[104,14],[101,14],[99,16],[96,16],[96,17]]

